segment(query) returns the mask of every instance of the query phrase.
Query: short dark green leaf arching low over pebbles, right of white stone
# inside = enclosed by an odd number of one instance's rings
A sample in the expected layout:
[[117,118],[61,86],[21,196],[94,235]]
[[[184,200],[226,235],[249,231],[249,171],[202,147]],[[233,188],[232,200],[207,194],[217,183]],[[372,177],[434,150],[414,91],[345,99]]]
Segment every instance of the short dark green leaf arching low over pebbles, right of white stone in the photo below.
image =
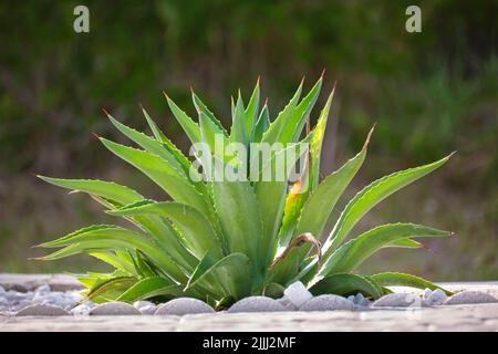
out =
[[362,275],[349,273],[338,273],[323,278],[310,288],[310,292],[315,296],[321,294],[346,296],[357,292],[374,299],[383,295],[382,289],[373,281]]

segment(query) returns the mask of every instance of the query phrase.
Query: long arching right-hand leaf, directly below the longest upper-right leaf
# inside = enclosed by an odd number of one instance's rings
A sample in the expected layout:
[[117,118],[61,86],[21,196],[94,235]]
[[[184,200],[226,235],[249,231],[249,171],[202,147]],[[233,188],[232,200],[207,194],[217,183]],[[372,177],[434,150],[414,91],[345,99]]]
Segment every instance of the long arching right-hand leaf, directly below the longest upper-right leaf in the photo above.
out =
[[387,223],[376,227],[338,248],[320,268],[314,282],[329,274],[353,271],[370,256],[396,240],[449,235],[452,232],[414,223]]

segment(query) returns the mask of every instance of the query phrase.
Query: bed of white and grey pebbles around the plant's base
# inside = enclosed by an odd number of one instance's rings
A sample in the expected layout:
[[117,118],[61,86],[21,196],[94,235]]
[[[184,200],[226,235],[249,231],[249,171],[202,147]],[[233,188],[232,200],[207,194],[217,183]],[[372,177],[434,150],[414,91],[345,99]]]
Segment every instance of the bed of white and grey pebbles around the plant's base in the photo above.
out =
[[[481,291],[461,291],[447,296],[444,291],[426,289],[421,292],[392,293],[376,301],[361,293],[342,298],[338,295],[313,296],[302,283],[291,284],[281,299],[249,296],[228,309],[228,313],[239,312],[284,312],[284,311],[373,311],[400,308],[437,308],[455,304],[497,303],[498,300]],[[172,300],[165,304],[137,301],[134,304],[110,302],[95,304],[85,301],[77,290],[53,291],[49,284],[31,291],[6,290],[0,285],[0,315],[7,316],[96,316],[96,315],[185,315],[212,313],[214,309],[203,301],[189,298]]]

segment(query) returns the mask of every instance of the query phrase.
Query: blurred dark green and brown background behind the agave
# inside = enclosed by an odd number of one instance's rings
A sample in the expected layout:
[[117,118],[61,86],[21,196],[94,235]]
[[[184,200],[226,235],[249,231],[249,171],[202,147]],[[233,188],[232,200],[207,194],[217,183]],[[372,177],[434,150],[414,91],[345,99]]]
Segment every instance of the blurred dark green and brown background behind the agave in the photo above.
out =
[[[76,4],[90,8],[90,33],[73,31]],[[422,8],[422,33],[405,31],[409,4]],[[0,272],[105,270],[87,258],[28,260],[40,254],[34,243],[113,221],[86,196],[68,196],[31,173],[115,179],[162,197],[92,137],[123,140],[102,107],[142,129],[142,103],[187,149],[163,90],[194,115],[194,86],[227,123],[230,94],[240,87],[247,97],[261,74],[274,117],[302,75],[310,87],[326,69],[324,91],[334,81],[338,91],[323,175],[357,152],[377,123],[350,195],[387,173],[458,150],[356,229],[414,221],[457,236],[430,241],[428,250],[383,251],[363,271],[497,279],[497,27],[491,0],[2,1]]]

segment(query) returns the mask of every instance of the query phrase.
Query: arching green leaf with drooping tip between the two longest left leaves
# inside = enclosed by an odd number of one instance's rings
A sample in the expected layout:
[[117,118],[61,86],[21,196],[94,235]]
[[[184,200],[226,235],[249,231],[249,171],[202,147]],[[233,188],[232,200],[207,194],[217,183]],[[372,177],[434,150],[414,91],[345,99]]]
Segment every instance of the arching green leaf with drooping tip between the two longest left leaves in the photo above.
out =
[[210,222],[195,208],[179,202],[151,202],[107,211],[117,216],[160,215],[170,219],[185,237],[185,244],[199,259],[207,252],[221,256],[220,240]]

